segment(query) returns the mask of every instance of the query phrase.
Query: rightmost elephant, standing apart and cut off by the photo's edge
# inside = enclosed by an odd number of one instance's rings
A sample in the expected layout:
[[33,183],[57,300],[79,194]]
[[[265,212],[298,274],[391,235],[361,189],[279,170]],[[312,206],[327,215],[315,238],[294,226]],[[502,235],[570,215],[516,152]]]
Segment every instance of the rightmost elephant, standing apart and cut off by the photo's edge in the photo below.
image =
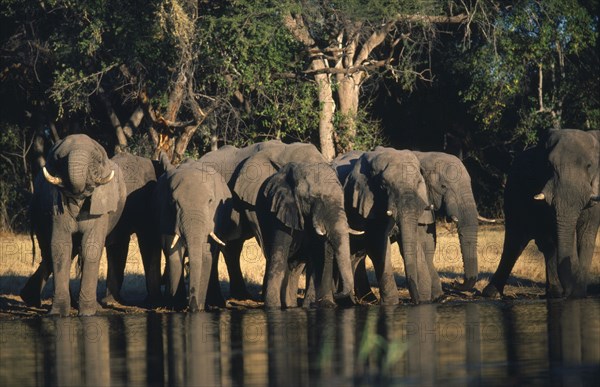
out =
[[546,260],[548,297],[584,297],[600,225],[600,131],[550,130],[515,159],[504,192],[502,256],[483,295],[503,293],[530,240]]

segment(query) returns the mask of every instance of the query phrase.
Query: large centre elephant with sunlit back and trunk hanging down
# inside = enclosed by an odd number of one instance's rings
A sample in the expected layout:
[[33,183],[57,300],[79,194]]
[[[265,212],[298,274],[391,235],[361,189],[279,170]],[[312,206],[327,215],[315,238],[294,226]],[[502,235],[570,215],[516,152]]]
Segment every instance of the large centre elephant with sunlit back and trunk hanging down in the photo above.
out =
[[[346,286],[341,294],[350,296],[353,293],[353,285],[349,285],[353,279],[347,245],[347,233],[351,230],[343,212],[343,192],[336,179],[326,179],[328,173],[331,177],[335,177],[335,173],[313,145],[287,145],[273,140],[242,149],[228,146],[204,155],[199,161],[214,166],[224,176],[232,191],[234,205],[241,214],[239,239],[222,248],[232,295],[248,294],[239,259],[244,240],[253,236],[268,259],[263,284],[267,307],[296,305],[301,268],[306,257],[314,255],[306,252],[308,246],[320,249],[319,254],[308,262],[308,277],[312,279],[313,269],[316,271],[318,302],[322,305],[333,303],[331,281],[324,284],[322,281],[331,275],[333,263],[333,259],[328,262],[322,259],[321,251],[324,252],[326,245],[335,251],[331,256],[335,256],[338,266],[343,268]],[[286,168],[290,162],[295,164]],[[319,200],[315,200],[318,195],[321,195]],[[331,203],[332,210],[315,213],[326,202]],[[324,235],[316,233],[315,224],[320,224],[319,233]],[[285,264],[294,265],[294,270],[284,268]],[[305,305],[309,304],[310,300],[307,300]]]

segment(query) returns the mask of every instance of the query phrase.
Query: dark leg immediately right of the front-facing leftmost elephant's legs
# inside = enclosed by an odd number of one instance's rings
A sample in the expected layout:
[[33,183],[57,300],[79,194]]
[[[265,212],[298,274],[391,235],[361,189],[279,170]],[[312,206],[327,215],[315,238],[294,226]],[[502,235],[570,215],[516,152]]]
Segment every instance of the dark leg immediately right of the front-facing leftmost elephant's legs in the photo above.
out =
[[125,277],[125,263],[129,252],[130,237],[119,238],[106,246],[107,274],[106,295],[102,299],[104,304],[118,302],[123,304],[121,287]]

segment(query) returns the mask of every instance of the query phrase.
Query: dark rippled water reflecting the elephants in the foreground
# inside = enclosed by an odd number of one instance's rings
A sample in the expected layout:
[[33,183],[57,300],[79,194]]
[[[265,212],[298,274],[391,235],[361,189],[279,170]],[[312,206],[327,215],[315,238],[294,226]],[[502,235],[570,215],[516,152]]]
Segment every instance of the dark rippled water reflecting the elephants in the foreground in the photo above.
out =
[[0,320],[0,385],[597,385],[600,299]]

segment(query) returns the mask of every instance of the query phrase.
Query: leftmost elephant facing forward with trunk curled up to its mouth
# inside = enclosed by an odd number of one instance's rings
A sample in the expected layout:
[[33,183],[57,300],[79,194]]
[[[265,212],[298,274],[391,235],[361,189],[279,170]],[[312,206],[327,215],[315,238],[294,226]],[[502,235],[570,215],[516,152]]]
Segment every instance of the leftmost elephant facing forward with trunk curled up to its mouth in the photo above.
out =
[[[93,315],[100,257],[126,200],[121,169],[100,144],[84,134],[57,142],[36,177],[30,211],[42,260],[52,262],[54,298],[50,314],[70,312],[71,258],[82,262],[79,315]],[[47,278],[47,275],[45,276]],[[35,287],[39,297],[40,288]]]

